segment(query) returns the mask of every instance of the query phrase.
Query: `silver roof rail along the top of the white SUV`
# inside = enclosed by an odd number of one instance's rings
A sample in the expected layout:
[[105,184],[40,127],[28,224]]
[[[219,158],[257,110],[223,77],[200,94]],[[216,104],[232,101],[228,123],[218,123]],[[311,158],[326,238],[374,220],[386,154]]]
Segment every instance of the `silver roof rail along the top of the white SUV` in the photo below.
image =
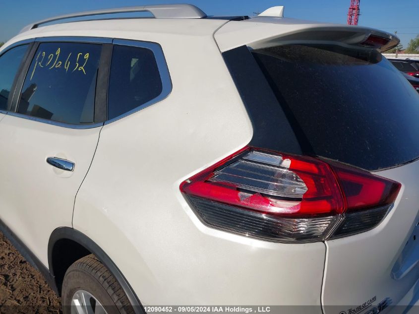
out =
[[192,4],[155,4],[155,5],[140,5],[140,6],[126,6],[120,8],[101,9],[93,11],[85,11],[79,13],[70,13],[60,16],[55,16],[41,20],[25,26],[20,33],[29,31],[39,27],[41,24],[46,24],[58,20],[63,20],[73,17],[92,16],[101,14],[117,14],[129,12],[150,12],[155,18],[203,18],[207,15],[198,7]]

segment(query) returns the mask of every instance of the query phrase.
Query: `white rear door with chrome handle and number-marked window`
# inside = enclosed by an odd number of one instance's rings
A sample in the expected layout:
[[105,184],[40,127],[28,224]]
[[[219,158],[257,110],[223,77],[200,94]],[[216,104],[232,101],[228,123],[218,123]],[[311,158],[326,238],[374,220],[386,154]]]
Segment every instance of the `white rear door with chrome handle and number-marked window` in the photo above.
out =
[[35,46],[0,123],[0,219],[45,265],[52,231],[72,225],[103,125],[94,115],[101,51],[98,43]]

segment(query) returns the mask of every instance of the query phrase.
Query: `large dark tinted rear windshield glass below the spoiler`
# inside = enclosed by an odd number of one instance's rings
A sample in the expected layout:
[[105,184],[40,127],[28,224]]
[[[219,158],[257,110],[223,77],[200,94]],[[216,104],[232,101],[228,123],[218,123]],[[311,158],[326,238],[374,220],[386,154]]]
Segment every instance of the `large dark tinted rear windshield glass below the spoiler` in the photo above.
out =
[[377,51],[284,45],[253,56],[314,155],[370,171],[419,157],[419,95]]

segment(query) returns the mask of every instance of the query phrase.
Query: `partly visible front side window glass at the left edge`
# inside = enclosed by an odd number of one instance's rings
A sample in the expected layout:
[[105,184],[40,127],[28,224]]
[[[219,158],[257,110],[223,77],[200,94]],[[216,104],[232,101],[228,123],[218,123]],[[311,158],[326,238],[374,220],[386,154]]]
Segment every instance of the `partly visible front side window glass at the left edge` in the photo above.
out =
[[28,45],[18,46],[0,57],[0,110],[7,109],[11,85],[27,48]]

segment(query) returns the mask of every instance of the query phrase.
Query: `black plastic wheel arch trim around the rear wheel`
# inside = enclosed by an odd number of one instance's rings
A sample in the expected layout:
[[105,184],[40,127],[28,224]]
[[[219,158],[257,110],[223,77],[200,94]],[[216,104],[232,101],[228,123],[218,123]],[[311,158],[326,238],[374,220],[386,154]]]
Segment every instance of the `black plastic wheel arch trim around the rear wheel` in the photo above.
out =
[[[108,254],[106,254],[105,251],[103,251],[93,240],[91,240],[89,237],[87,237],[78,230],[75,230],[70,227],[60,227],[53,231],[53,233],[50,236],[50,241],[48,243],[48,264],[50,265],[50,268],[52,268],[51,265],[53,265],[54,246],[59,240],[64,239],[74,241],[80,246],[84,247],[87,251],[90,251],[92,254],[94,254],[100,260],[100,262],[108,268],[111,274],[117,279],[123,292],[127,296],[129,303],[132,305],[134,312],[136,314],[146,313],[143,306],[141,305],[141,302],[134,293],[132,287],[129,285],[126,278],[123,276],[117,265],[115,265],[115,263],[108,256]],[[50,274],[52,278],[55,278],[54,269],[50,269]],[[56,285],[55,282],[54,284]]]

